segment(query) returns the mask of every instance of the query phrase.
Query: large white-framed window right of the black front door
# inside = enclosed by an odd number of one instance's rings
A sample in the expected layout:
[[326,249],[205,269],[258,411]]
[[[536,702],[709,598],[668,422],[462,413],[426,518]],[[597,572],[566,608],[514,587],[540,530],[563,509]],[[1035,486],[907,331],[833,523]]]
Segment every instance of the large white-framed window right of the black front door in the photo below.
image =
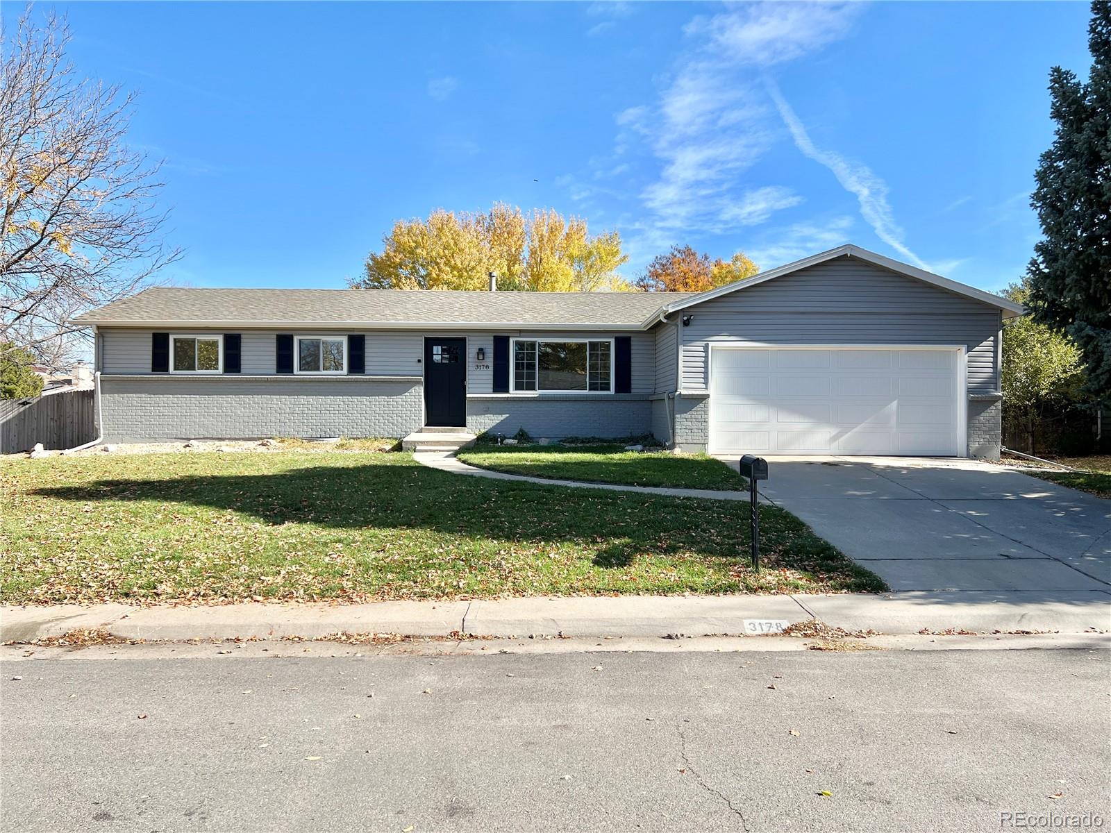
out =
[[514,393],[612,393],[613,339],[513,339]]

